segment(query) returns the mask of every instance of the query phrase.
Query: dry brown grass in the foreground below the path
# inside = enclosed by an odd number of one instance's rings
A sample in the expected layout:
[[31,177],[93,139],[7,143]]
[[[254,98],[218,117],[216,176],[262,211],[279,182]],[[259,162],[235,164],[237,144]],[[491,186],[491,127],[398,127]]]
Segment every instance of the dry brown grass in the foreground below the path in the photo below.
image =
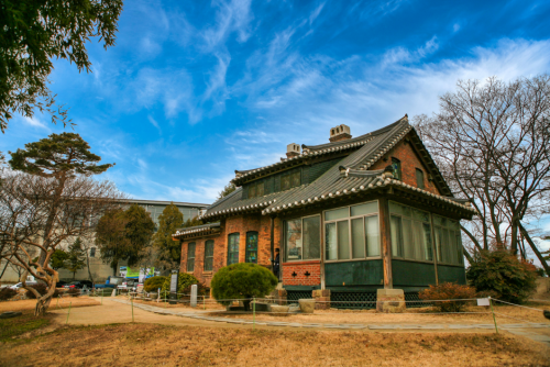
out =
[[62,327],[0,345],[4,366],[548,366],[549,349],[495,334],[251,331],[124,324]]

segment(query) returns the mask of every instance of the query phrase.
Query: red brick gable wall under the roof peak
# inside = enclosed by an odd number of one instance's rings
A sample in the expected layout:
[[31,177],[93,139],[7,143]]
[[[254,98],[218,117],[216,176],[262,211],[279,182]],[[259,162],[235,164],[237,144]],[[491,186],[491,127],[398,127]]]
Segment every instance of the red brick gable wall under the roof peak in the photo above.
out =
[[384,158],[381,158],[369,169],[384,169],[392,164],[392,157],[395,157],[402,162],[402,180],[405,184],[418,187],[416,182],[416,169],[420,168],[424,171],[425,190],[439,194],[440,192],[436,188],[436,185],[433,185],[433,181],[428,180],[428,170],[421,163],[420,157],[416,154],[410,144],[405,143],[404,140],[397,143],[388,153],[385,154],[384,157],[387,158],[386,162],[384,162]]

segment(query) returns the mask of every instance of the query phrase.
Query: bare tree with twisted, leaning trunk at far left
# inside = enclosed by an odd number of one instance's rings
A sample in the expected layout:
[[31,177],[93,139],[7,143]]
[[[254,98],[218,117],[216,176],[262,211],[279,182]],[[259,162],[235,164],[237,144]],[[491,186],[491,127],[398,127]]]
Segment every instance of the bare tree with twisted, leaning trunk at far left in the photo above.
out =
[[[21,281],[32,275],[47,285],[37,299],[35,314],[43,314],[55,291],[58,273],[50,266],[56,248],[94,233],[99,218],[122,198],[112,182],[86,176],[67,178],[58,198],[55,178],[12,173],[0,186],[0,245],[2,259],[23,269]],[[52,205],[52,200],[57,204]],[[52,229],[46,231],[46,229]],[[44,255],[41,260],[37,254]]]

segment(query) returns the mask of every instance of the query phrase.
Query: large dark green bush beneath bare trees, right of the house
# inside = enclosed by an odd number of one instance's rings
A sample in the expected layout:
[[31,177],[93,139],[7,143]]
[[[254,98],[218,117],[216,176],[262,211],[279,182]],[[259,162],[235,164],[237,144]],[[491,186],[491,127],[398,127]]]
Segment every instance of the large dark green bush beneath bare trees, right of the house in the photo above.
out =
[[537,273],[507,251],[484,251],[474,257],[466,278],[477,291],[495,291],[503,301],[522,303],[535,291]]

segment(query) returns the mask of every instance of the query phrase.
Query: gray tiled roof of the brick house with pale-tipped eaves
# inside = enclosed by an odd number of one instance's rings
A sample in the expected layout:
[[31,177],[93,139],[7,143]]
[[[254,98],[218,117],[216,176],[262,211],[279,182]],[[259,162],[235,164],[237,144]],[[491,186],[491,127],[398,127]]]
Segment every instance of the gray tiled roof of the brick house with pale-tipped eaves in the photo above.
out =
[[244,211],[261,211],[262,214],[282,212],[290,208],[309,205],[321,200],[331,200],[341,196],[354,194],[360,191],[388,185],[414,190],[471,211],[470,207],[453,200],[453,198],[432,194],[402,181],[385,178],[383,170],[369,170],[372,165],[378,162],[411,130],[413,126],[409,125],[408,119],[405,116],[388,126],[356,137],[355,142],[346,140],[323,145],[306,146],[306,149],[308,149],[306,153],[315,155],[318,152],[327,149],[332,151],[351,145],[356,146],[358,142],[361,142],[359,149],[352,152],[338,166],[331,167],[309,185],[252,199],[242,199],[242,189],[238,189],[227,200],[218,201],[209,207],[204,218],[217,218],[219,215],[237,214]]

